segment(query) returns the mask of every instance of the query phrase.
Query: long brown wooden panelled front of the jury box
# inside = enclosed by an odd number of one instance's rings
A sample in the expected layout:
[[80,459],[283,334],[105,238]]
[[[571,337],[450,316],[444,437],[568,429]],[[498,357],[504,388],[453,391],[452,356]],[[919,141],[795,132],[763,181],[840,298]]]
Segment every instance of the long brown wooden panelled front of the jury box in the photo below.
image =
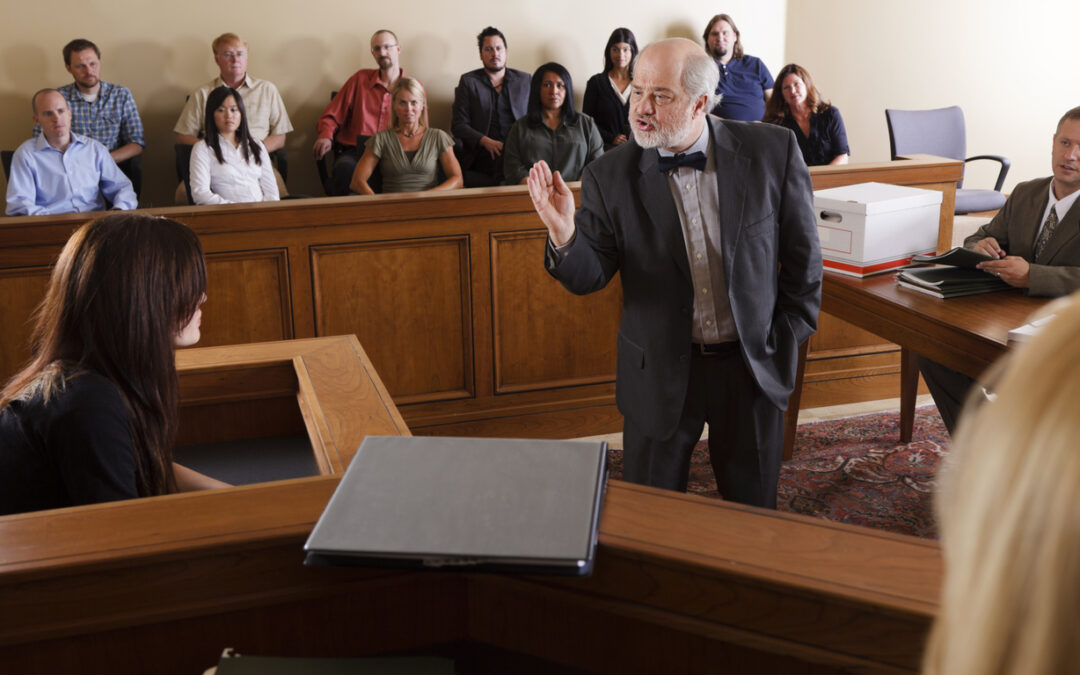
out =
[[[877,180],[943,190],[941,228],[950,232],[960,166],[919,157],[815,166],[811,178],[815,188]],[[580,420],[593,431],[610,418],[588,410],[615,403],[618,280],[585,298],[559,287],[543,269],[543,229],[524,187],[151,213],[190,225],[207,253],[203,345],[357,335],[402,415],[424,433],[518,435],[516,418],[522,433],[556,437]],[[85,220],[85,214],[0,220],[0,297],[12,305],[0,326],[0,378],[26,354],[22,322],[40,298],[44,270]],[[38,276],[13,281],[27,270]],[[882,353],[899,369],[895,349],[823,315],[808,372],[821,374],[839,356],[867,361]],[[815,400],[820,382],[828,382],[829,400],[842,394],[837,381],[849,370],[808,382],[806,401]],[[891,384],[880,382],[895,374],[873,377],[873,387],[864,379],[846,390],[850,401],[888,393]]]

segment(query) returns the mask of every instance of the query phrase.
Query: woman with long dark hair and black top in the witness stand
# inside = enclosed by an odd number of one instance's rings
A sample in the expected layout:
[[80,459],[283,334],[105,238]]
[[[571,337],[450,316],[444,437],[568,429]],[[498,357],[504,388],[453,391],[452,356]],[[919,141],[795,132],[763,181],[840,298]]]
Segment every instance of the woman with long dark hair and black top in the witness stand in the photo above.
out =
[[199,239],[175,220],[76,230],[33,357],[0,391],[0,514],[226,486],[172,460],[174,349],[199,340],[205,288]]

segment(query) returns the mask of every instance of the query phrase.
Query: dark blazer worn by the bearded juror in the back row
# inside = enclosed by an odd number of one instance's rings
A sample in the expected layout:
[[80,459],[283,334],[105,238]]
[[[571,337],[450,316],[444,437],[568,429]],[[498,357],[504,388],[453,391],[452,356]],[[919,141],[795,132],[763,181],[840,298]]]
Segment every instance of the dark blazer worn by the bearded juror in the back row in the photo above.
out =
[[[529,82],[532,76],[521,70],[507,68],[502,85],[510,94],[510,109],[514,119],[523,117],[529,104]],[[450,132],[458,141],[455,151],[461,168],[472,166],[480,147],[480,139],[487,135],[491,124],[495,108],[491,106],[491,82],[483,68],[470,70],[458,80],[454,90],[454,109],[450,118]]]

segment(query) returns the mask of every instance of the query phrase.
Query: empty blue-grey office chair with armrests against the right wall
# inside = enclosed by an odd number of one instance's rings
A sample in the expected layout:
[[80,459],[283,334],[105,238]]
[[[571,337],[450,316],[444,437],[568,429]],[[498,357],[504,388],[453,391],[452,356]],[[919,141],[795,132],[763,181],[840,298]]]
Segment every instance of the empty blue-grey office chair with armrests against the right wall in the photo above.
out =
[[892,159],[922,153],[962,160],[964,163],[991,160],[1001,165],[993,190],[964,189],[962,179],[956,184],[957,214],[995,211],[1004,205],[1005,195],[1001,193],[1001,186],[1012,162],[1000,154],[967,157],[963,110],[959,106],[935,110],[887,109],[885,119],[889,124],[889,150]]

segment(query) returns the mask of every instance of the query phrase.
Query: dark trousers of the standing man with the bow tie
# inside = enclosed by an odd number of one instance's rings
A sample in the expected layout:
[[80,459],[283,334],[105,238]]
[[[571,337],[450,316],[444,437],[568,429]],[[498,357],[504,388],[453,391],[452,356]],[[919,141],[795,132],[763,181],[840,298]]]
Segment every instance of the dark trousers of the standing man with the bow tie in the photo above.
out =
[[758,389],[737,345],[716,355],[703,355],[694,347],[686,402],[671,437],[650,438],[624,418],[623,480],[685,491],[690,456],[706,421],[720,496],[775,509],[784,413]]

